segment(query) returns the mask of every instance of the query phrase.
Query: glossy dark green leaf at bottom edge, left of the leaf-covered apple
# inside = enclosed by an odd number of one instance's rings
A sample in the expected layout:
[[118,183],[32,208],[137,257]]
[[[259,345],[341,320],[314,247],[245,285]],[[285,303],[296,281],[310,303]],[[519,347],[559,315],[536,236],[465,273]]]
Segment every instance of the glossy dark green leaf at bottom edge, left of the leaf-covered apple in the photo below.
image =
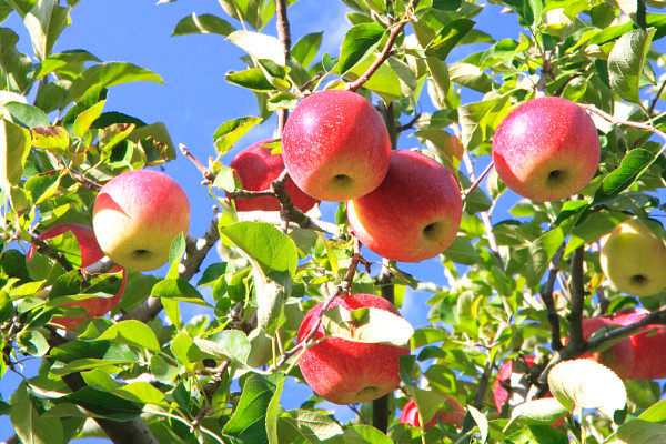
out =
[[241,400],[223,432],[245,443],[269,443],[266,415],[273,396],[280,397],[284,374],[251,374],[243,385]]

